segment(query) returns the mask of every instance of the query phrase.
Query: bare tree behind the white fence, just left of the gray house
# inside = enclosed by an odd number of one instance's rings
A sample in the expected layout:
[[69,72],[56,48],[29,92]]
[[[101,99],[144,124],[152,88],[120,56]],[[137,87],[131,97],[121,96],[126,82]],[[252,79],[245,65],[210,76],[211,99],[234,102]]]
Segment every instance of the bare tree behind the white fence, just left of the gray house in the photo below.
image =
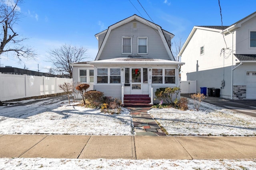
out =
[[77,63],[86,59],[86,51],[83,47],[77,48],[71,45],[62,45],[60,48],[51,49],[48,51],[48,62],[52,63],[54,68],[52,71],[61,72],[62,74],[69,74],[72,78],[72,66],[71,63]]

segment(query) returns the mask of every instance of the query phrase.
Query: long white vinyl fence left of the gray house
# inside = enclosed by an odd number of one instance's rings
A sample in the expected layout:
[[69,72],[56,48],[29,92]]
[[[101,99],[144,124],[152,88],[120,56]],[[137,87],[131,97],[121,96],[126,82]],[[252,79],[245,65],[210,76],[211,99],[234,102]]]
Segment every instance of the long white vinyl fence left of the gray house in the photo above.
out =
[[58,85],[64,82],[72,82],[72,78],[0,73],[0,101],[62,93]]

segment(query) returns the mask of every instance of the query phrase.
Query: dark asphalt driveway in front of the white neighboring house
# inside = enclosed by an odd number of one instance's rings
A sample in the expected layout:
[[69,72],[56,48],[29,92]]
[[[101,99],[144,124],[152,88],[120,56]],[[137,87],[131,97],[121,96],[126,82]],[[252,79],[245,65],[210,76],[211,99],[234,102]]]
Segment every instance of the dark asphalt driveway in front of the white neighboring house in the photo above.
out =
[[[180,94],[190,98],[190,94]],[[206,96],[204,102],[256,117],[256,100],[231,100]]]

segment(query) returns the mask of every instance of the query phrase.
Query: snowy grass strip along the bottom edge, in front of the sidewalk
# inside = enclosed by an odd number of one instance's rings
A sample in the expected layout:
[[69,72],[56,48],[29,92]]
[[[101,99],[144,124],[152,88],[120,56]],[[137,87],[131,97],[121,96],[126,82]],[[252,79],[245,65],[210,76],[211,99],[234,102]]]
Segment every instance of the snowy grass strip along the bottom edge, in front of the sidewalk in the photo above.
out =
[[0,169],[40,170],[253,170],[255,160],[126,160],[126,159],[46,159],[46,158],[0,158]]

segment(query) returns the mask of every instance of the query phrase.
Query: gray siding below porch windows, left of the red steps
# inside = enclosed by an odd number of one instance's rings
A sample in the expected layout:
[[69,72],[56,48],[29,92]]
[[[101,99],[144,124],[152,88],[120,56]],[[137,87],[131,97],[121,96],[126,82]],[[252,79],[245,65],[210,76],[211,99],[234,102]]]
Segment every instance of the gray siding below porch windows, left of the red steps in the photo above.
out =
[[111,96],[112,98],[122,98],[122,85],[113,84],[96,84],[94,90],[104,92],[104,96]]

